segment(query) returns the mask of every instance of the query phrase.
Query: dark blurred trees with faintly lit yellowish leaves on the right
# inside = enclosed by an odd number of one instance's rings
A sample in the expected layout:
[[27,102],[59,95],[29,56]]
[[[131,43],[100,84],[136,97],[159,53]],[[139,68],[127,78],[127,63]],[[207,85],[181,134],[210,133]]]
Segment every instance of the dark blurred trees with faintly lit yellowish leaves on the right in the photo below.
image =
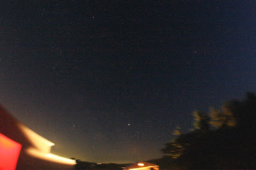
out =
[[256,95],[242,101],[225,102],[209,113],[194,112],[194,129],[176,135],[161,151],[163,158],[151,160],[163,168],[253,169],[256,167]]

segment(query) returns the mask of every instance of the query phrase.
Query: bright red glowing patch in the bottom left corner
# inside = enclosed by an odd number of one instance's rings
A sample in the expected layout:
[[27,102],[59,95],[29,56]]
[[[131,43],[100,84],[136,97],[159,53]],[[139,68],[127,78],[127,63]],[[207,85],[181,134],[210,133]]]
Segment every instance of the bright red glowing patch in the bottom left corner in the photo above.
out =
[[15,169],[21,144],[0,134],[0,169]]

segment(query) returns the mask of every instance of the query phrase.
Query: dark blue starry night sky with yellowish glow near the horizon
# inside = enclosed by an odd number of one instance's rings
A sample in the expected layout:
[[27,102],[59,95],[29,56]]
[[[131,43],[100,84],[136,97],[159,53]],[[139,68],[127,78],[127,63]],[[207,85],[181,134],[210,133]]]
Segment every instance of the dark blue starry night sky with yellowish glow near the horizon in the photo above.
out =
[[91,162],[159,151],[256,84],[253,1],[1,1],[0,102]]

